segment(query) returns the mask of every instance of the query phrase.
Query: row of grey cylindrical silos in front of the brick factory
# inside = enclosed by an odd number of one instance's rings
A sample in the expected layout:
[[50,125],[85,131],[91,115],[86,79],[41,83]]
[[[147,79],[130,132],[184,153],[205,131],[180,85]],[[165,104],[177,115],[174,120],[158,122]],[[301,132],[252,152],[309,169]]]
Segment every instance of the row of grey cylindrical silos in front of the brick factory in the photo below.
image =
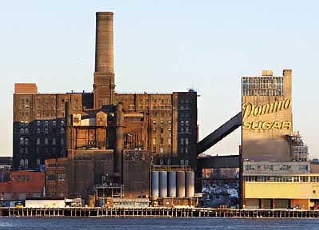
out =
[[151,171],[151,195],[160,197],[193,197],[195,173],[193,171]]

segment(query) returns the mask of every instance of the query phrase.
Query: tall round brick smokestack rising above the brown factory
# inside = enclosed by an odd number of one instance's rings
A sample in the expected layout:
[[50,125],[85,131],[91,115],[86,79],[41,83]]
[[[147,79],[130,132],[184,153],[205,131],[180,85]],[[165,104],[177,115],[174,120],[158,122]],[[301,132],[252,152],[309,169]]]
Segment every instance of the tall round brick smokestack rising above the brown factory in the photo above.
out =
[[96,13],[94,107],[114,103],[113,12]]

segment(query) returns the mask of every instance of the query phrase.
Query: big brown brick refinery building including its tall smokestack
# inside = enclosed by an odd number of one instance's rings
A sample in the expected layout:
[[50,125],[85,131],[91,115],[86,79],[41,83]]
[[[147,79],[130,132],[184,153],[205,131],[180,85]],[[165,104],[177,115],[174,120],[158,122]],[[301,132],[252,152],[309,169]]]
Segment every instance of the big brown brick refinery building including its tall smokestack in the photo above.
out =
[[[40,169],[45,159],[67,157],[66,103],[69,103],[69,114],[74,119],[93,121],[96,114],[103,110],[104,116],[110,121],[110,127],[112,115],[116,111],[103,108],[122,103],[125,114],[122,134],[125,149],[149,150],[153,155],[180,157],[187,159],[189,163],[194,159],[197,142],[197,93],[192,90],[168,94],[116,93],[113,56],[113,13],[97,12],[92,93],[43,94],[38,93],[34,83],[15,84],[15,169]],[[74,122],[74,126],[82,127],[77,128],[78,137],[84,133],[97,131],[102,135],[104,132],[104,140],[99,140],[100,144],[105,141],[103,148],[115,149],[115,139],[107,137],[114,135],[115,129],[106,128],[107,126],[101,128],[90,123]],[[84,126],[90,126],[90,131]],[[72,143],[72,149],[82,148],[96,141],[94,138],[84,139],[77,138],[78,143]]]

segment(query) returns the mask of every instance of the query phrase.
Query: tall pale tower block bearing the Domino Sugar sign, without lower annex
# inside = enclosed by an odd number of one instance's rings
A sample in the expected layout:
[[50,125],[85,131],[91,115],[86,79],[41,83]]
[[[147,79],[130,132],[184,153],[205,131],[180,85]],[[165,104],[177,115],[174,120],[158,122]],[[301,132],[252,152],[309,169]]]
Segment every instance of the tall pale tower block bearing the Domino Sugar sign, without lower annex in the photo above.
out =
[[242,155],[249,160],[290,161],[291,70],[242,78]]

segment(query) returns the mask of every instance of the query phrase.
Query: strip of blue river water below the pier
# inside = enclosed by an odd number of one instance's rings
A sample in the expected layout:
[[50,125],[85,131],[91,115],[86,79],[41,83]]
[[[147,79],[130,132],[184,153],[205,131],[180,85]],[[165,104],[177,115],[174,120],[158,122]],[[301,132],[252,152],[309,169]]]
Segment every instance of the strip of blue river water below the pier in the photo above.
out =
[[0,218],[5,230],[319,230],[318,219]]

